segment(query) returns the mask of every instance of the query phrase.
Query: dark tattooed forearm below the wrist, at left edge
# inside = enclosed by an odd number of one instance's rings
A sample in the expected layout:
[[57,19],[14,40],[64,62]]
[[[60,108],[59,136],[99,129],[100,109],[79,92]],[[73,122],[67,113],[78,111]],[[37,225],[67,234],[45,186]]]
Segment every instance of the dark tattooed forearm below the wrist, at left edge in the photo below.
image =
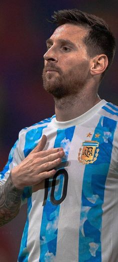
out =
[[6,182],[0,185],[0,226],[18,214],[22,191],[13,185],[11,174]]

